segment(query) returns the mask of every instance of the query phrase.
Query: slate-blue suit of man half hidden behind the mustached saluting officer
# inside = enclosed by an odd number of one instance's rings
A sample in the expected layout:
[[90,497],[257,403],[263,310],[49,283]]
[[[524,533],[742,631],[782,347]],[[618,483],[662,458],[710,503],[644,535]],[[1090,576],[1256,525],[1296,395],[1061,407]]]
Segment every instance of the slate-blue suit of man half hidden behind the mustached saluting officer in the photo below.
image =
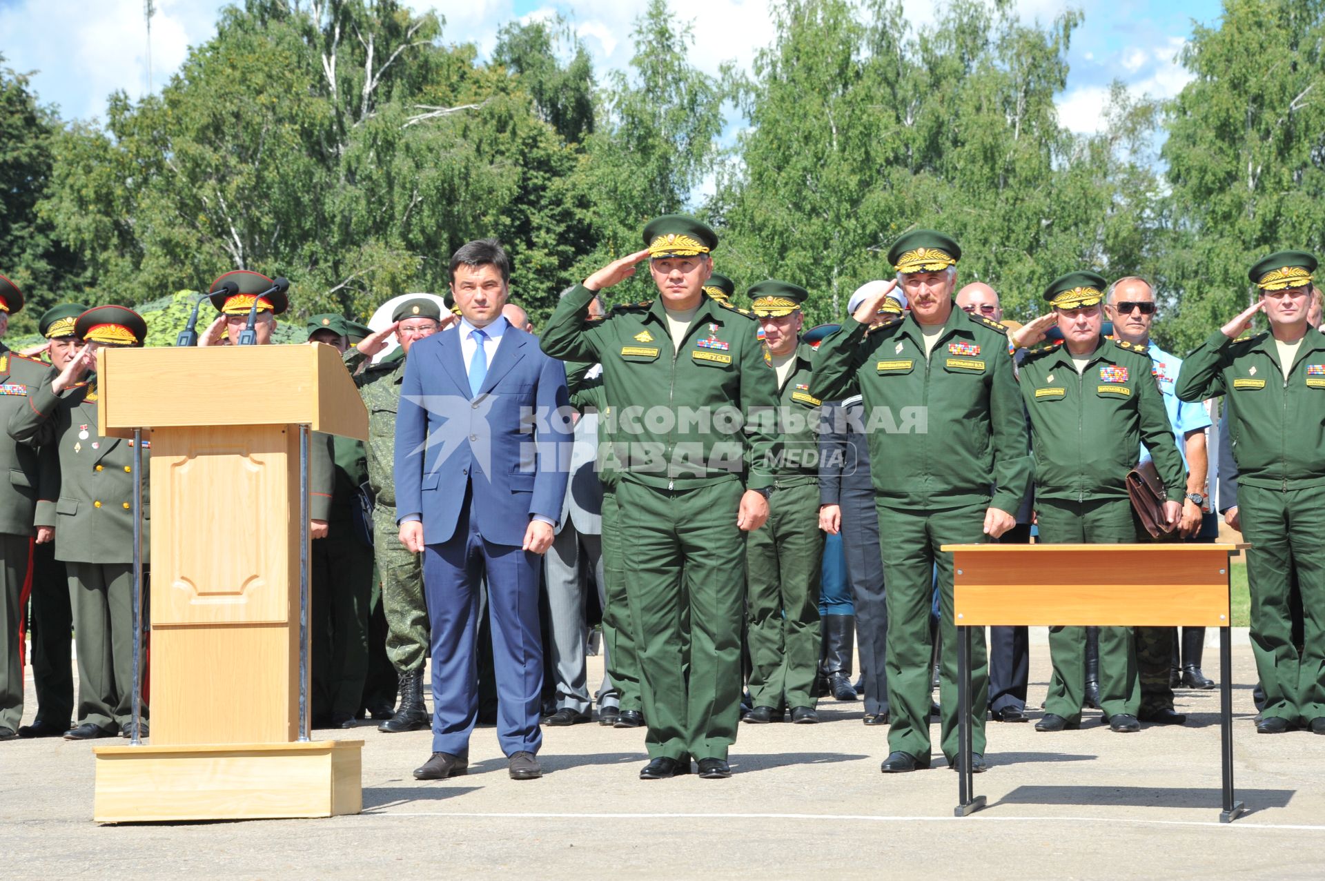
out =
[[841,506],[841,544],[856,605],[856,643],[864,678],[865,714],[888,713],[888,605],[878,550],[878,511],[869,480],[869,437],[860,395],[824,407],[819,436],[819,503]]

